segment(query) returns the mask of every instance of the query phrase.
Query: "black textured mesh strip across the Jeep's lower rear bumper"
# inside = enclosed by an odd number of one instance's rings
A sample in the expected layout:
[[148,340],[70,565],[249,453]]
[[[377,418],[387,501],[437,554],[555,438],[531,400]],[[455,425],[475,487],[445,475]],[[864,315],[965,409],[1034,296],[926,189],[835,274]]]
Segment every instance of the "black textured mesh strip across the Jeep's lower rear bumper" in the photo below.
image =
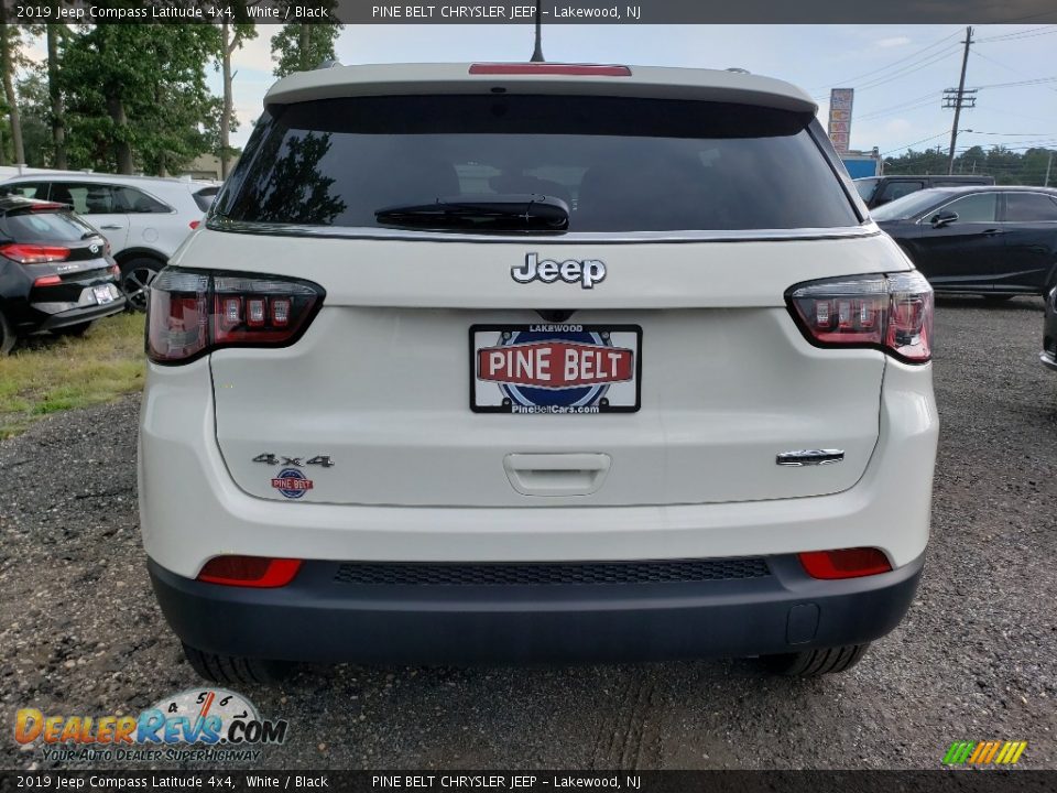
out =
[[763,578],[762,556],[584,564],[344,564],[341,584],[424,586],[533,586],[555,584],[678,584]]

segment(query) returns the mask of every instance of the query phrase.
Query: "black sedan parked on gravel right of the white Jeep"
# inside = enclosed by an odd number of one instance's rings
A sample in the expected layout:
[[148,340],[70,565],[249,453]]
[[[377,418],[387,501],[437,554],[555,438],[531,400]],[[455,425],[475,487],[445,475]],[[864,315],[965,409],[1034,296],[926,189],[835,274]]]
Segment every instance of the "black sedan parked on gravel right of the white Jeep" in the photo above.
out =
[[872,214],[938,292],[1005,300],[1057,283],[1057,189],[938,187]]

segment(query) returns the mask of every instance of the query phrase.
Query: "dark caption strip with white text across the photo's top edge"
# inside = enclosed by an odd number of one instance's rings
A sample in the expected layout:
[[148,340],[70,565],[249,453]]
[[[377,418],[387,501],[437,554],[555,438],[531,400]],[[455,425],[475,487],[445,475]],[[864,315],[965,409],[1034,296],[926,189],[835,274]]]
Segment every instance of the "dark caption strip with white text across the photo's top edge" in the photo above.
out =
[[[534,23],[534,0],[369,2],[367,0],[0,0],[9,24],[220,23],[258,24],[517,24]],[[559,0],[538,3],[544,24],[901,23],[1003,24],[1057,22],[1053,0],[923,3],[887,0]]]

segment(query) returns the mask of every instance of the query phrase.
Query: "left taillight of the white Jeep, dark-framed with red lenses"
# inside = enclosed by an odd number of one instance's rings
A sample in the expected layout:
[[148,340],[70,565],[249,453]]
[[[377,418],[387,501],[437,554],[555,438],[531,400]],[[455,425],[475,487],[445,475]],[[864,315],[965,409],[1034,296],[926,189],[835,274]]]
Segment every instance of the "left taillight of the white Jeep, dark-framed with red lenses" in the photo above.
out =
[[166,268],[151,282],[146,352],[186,363],[220,347],[285,347],[308,327],[323,289],[308,281]]

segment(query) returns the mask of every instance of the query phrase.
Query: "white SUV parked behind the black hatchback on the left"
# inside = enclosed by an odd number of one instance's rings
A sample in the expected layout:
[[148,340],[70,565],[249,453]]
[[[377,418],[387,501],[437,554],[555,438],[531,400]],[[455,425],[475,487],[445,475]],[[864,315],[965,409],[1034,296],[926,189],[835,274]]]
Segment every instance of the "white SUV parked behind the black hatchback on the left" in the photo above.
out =
[[216,197],[213,182],[55,171],[0,184],[0,195],[67,204],[102,232],[121,268],[129,302],[145,307],[148,286]]

